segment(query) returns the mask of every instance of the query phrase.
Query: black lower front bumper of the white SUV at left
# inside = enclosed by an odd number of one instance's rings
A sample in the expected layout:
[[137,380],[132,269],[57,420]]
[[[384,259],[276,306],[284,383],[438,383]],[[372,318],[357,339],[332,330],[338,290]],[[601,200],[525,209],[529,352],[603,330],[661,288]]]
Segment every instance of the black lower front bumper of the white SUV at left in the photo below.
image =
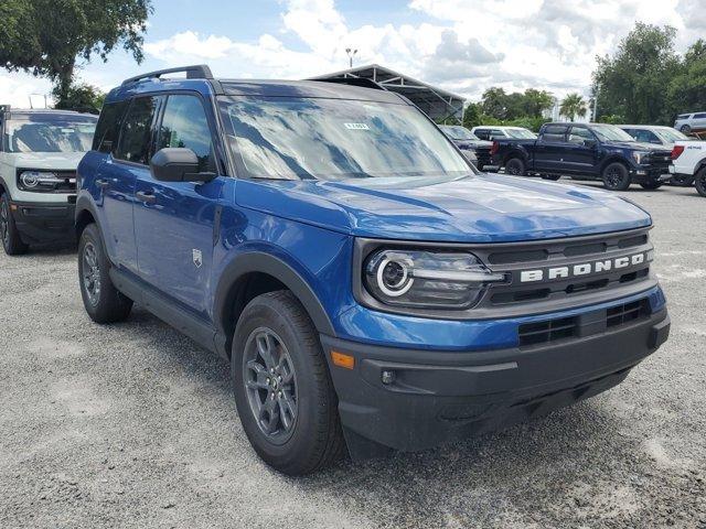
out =
[[[10,210],[20,236],[25,244],[72,242],[74,230],[74,203],[11,202]],[[68,197],[72,201],[72,196]]]

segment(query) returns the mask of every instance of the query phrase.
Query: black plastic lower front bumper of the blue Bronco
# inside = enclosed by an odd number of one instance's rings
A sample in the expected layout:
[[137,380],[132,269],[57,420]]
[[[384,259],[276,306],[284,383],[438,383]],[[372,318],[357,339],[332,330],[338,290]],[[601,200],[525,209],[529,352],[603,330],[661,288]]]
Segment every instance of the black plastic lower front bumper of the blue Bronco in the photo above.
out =
[[[355,357],[330,365],[349,450],[365,458],[424,450],[496,430],[592,397],[621,382],[667,338],[666,309],[596,334],[527,347],[435,352],[321,336]],[[383,382],[383,373],[393,380]]]

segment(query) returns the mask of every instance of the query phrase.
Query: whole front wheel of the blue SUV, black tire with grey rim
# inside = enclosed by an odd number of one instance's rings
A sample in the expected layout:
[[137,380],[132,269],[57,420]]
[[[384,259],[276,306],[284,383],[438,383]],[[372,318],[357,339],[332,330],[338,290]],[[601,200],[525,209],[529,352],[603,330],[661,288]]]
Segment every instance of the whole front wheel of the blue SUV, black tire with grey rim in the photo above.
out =
[[231,374],[243,429],[268,465],[297,476],[341,457],[345,444],[333,382],[311,319],[291,292],[269,292],[247,304],[233,337]]

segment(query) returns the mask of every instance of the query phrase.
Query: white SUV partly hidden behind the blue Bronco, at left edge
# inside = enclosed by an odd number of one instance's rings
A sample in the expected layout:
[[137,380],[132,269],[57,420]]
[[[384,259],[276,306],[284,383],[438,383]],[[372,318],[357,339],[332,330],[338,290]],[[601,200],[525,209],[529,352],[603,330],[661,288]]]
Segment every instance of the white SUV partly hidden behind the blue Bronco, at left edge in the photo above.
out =
[[76,166],[97,116],[0,106],[0,239],[6,253],[75,238]]

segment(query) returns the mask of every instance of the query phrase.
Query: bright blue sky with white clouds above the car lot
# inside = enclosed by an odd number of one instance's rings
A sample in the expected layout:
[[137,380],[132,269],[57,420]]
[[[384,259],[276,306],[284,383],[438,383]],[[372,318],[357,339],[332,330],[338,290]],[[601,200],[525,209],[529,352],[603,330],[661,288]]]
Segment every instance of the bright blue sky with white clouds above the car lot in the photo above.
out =
[[[588,95],[596,56],[635,22],[677,29],[683,52],[706,30],[703,0],[153,0],[145,61],[124,51],[79,63],[109,90],[140,72],[206,63],[229,78],[303,78],[381,64],[479,100],[483,90]],[[0,69],[0,104],[43,105],[46,79]]]

